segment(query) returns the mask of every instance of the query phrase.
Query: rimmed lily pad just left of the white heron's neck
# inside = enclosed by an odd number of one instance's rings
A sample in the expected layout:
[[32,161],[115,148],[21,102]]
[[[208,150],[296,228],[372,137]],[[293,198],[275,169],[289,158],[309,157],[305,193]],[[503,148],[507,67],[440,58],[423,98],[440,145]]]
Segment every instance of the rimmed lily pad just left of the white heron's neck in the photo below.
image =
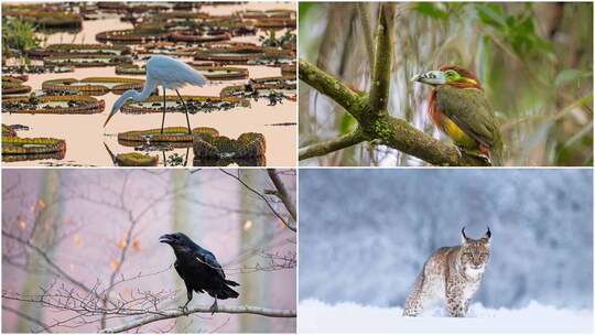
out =
[[144,86],[143,79],[122,77],[89,77],[80,80],[74,78],[45,80],[43,90],[80,91],[86,95],[101,96],[109,91],[120,95],[128,89],[140,90]]

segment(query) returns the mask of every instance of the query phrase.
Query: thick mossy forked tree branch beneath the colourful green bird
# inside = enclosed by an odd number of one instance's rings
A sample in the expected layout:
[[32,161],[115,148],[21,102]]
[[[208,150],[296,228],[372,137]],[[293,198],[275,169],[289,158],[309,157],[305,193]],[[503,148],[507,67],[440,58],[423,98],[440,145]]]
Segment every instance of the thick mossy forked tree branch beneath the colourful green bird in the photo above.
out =
[[366,94],[353,91],[340,80],[310,62],[299,61],[300,79],[340,105],[358,122],[358,129],[351,133],[301,148],[300,160],[325,155],[363,141],[380,140],[385,145],[433,165],[487,165],[485,160],[461,153],[455,145],[425,134],[403,119],[389,116],[387,106],[393,45],[389,29],[391,29],[390,22],[394,15],[394,4],[383,4],[379,12],[369,97]]

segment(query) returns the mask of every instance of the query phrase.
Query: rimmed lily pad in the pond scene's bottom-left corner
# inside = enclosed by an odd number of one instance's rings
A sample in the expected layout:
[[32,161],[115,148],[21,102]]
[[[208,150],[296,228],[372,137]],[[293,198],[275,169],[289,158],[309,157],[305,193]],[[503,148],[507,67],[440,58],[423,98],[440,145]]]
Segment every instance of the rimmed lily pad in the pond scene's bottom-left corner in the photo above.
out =
[[46,154],[66,152],[66,142],[64,140],[52,138],[19,138],[2,136],[2,160],[4,155],[21,154]]

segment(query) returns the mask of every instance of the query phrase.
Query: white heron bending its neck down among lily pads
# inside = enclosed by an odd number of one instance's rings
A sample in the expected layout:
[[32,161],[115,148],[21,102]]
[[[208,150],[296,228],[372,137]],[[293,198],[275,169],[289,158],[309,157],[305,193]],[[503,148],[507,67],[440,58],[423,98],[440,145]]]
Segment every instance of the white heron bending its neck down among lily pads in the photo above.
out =
[[116,115],[118,110],[120,110],[126,100],[133,99],[137,102],[144,101],[155,89],[155,87],[161,86],[163,87],[163,119],[161,120],[161,133],[163,133],[163,126],[165,123],[165,89],[173,89],[184,105],[184,109],[186,111],[186,122],[188,123],[188,133],[192,134],[188,108],[186,107],[186,102],[184,99],[182,99],[182,96],[177,89],[186,85],[203,86],[206,84],[206,78],[202,74],[184,62],[167,56],[152,56],[147,62],[147,76],[142,90],[140,93],[134,89],[125,91],[116,100],[116,102],[113,102],[111,112],[109,114],[106,123],[104,123],[104,127],[106,127],[111,117]]

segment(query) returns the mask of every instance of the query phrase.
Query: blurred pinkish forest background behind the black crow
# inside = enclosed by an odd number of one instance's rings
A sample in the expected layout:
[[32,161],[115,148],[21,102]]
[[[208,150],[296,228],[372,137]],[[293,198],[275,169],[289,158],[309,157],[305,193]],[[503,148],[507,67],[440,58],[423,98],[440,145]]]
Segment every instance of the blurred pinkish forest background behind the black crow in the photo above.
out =
[[[295,171],[275,173],[295,201]],[[295,310],[296,235],[266,170],[3,170],[2,182],[2,333],[94,333],[176,310],[186,289],[159,242],[174,231],[241,284],[219,306]],[[293,333],[295,318],[197,313],[129,332]]]

